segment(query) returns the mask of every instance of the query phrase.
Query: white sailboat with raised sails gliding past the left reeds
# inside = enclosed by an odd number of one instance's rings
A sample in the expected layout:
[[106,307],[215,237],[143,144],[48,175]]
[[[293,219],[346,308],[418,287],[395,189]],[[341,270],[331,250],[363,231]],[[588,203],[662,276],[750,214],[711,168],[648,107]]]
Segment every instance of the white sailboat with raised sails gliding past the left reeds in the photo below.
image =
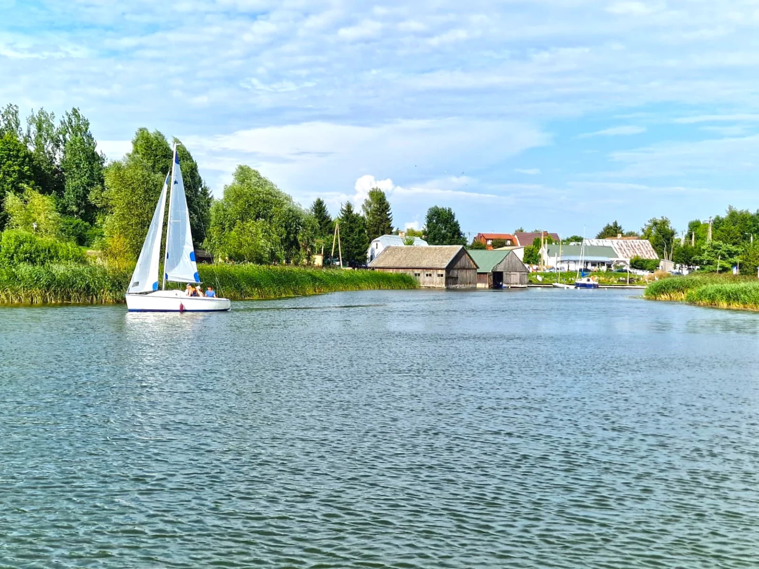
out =
[[[159,290],[163,210],[167,194],[166,259],[163,277],[160,279],[162,286]],[[167,282],[200,283],[176,143],[172,171],[166,174],[145,243],[129,281],[125,295],[127,308],[130,312],[216,312],[231,308],[231,302],[226,298],[188,297],[184,291],[167,291]]]

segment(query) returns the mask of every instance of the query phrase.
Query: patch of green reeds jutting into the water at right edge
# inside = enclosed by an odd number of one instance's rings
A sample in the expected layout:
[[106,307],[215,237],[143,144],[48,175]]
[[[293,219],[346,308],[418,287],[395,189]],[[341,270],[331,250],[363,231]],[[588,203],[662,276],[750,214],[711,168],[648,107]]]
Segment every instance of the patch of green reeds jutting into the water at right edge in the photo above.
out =
[[759,281],[733,275],[688,275],[663,278],[648,285],[648,300],[684,302],[699,307],[759,310]]

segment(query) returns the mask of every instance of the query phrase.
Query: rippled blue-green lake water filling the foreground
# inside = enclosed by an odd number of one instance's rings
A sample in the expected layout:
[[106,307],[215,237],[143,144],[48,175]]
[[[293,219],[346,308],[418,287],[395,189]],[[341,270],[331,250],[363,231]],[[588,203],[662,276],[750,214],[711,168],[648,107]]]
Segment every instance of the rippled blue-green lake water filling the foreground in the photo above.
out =
[[757,567],[759,314],[0,309],[0,567]]

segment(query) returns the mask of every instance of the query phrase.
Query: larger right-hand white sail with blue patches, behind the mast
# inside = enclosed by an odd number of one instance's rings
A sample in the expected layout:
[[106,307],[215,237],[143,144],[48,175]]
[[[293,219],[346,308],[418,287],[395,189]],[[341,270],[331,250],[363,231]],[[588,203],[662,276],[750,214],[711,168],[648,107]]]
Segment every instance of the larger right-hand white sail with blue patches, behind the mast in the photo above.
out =
[[172,282],[200,282],[195,264],[195,250],[190,231],[190,213],[184,196],[184,181],[179,167],[179,152],[174,147],[172,193],[168,200],[166,229],[166,270],[164,278]]

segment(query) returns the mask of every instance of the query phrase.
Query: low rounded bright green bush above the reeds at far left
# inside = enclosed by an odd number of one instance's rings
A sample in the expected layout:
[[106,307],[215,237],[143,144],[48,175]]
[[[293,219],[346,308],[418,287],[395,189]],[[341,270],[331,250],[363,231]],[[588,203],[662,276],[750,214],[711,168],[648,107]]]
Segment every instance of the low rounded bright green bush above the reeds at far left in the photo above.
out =
[[36,237],[27,231],[3,231],[0,237],[0,266],[46,265],[51,262],[85,263],[87,256],[74,243]]

